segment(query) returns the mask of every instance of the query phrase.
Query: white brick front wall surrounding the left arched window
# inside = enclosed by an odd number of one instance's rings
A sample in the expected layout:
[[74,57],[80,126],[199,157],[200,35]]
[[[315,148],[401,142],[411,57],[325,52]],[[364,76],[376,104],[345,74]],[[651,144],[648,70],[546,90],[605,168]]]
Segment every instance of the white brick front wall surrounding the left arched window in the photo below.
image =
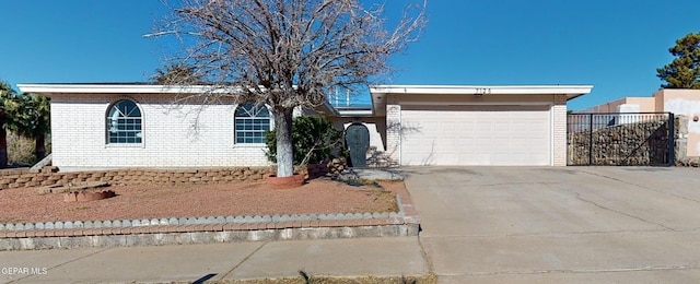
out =
[[[143,143],[107,144],[107,107],[131,98],[141,107]],[[59,168],[266,166],[266,146],[234,144],[236,105],[173,106],[168,95],[51,96],[52,163]]]

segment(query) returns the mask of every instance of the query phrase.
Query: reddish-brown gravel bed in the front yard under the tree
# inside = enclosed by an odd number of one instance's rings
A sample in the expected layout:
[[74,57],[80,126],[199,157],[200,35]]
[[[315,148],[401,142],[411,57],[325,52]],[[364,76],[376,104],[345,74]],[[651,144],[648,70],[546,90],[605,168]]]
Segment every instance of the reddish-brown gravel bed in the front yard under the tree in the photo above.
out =
[[265,181],[219,185],[138,185],[102,188],[116,197],[65,202],[61,193],[36,188],[0,190],[0,223],[114,221],[275,214],[396,212],[402,181],[348,185],[328,178],[295,189],[269,189]]

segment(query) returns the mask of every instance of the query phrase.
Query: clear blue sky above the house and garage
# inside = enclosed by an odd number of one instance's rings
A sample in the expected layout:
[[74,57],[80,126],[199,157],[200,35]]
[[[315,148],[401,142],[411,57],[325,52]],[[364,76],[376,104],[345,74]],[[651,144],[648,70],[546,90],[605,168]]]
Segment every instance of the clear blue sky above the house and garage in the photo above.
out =
[[[388,13],[407,0],[387,0]],[[673,5],[670,4],[673,3]],[[0,79],[18,83],[141,82],[164,47],[143,38],[159,0],[4,0]],[[392,84],[592,84],[582,109],[651,96],[667,49],[700,32],[698,0],[429,0],[430,23],[392,61]]]

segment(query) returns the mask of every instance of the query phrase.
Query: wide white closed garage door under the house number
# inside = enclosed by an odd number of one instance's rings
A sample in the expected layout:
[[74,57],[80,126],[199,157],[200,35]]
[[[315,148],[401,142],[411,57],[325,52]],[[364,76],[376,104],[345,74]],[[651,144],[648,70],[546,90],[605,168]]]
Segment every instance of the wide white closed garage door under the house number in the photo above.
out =
[[549,106],[401,106],[401,165],[550,165]]

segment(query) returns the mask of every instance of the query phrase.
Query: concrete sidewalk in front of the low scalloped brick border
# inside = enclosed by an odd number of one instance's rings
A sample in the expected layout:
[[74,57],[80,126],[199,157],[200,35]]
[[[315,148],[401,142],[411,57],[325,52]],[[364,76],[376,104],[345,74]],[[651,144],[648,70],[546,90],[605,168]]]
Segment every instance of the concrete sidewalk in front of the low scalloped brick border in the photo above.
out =
[[197,282],[429,274],[417,237],[0,252],[3,283]]

